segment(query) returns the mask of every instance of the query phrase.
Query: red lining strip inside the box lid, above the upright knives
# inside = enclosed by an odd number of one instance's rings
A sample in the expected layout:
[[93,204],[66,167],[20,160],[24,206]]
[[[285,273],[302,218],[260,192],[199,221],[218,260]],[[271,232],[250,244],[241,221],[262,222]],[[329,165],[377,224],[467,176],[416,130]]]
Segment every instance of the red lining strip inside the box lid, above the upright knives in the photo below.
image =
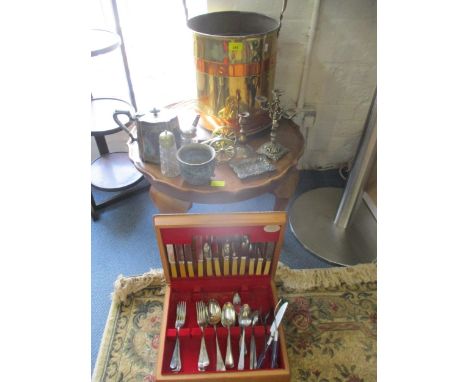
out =
[[266,232],[264,226],[250,227],[180,227],[161,228],[161,237],[166,244],[190,244],[194,236],[215,236],[225,237],[234,235],[248,235],[250,242],[260,243],[267,241],[278,241],[279,230],[276,232]]

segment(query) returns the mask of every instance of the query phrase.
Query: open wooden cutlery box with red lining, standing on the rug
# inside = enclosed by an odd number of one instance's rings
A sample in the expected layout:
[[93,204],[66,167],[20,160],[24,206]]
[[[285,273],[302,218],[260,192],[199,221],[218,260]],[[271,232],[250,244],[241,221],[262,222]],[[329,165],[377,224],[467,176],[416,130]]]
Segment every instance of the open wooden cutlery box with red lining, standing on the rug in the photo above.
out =
[[[244,370],[237,370],[241,328],[237,320],[231,326],[231,346],[234,368],[216,371],[215,332],[208,325],[205,342],[210,359],[206,371],[197,368],[202,332],[197,324],[195,303],[218,301],[221,307],[232,302],[237,292],[242,304],[249,304],[264,316],[271,311],[266,323],[269,337],[273,309],[278,301],[274,275],[286,229],[285,212],[255,212],[229,214],[167,214],[154,216],[154,227],[164,274],[167,281],[161,324],[157,381],[290,381],[290,370],[282,325],[279,327],[278,367],[270,368],[271,350],[261,369],[249,368],[249,343],[255,334],[257,358],[264,349],[265,327],[260,321],[245,329],[248,354]],[[245,251],[240,243],[247,237],[254,250]],[[209,242],[211,258],[201,248]],[[231,255],[223,250],[223,243],[231,243]],[[235,255],[233,255],[235,253]],[[176,340],[176,306],[186,301],[186,318],[179,330],[182,369],[173,372],[170,362]],[[227,328],[217,325],[219,346],[223,360],[226,356]]]

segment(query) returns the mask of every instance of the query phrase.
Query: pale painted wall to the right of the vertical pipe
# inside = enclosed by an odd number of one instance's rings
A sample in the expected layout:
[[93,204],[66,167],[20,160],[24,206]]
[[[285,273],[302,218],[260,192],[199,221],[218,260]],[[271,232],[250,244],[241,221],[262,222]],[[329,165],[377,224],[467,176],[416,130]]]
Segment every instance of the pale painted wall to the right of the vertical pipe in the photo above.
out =
[[375,0],[322,0],[306,102],[317,110],[302,165],[329,167],[354,157],[377,86]]

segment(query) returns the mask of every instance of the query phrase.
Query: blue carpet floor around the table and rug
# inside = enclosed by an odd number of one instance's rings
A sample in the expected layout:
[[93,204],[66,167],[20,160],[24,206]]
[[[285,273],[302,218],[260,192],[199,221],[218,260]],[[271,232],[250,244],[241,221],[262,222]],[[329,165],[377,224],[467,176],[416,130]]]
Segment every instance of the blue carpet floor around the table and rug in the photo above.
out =
[[[301,171],[296,193],[318,187],[344,187],[338,171]],[[111,194],[93,190],[97,203]],[[190,213],[271,211],[274,196],[265,194],[244,202],[229,204],[194,204]],[[147,192],[134,195],[101,211],[98,221],[91,223],[91,367],[94,369],[107,314],[110,295],[118,275],[138,275],[160,268],[161,260],[152,225],[158,213]],[[330,265],[306,251],[286,231],[280,260],[291,268],[324,268]]]

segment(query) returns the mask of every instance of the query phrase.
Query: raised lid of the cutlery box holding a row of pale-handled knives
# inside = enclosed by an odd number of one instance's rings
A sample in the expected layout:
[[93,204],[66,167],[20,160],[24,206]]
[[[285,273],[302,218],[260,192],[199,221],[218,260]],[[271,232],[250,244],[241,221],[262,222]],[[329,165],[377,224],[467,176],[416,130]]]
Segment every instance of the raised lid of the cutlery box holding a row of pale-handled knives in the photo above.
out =
[[201,277],[274,277],[286,212],[164,214],[153,218],[168,283]]

